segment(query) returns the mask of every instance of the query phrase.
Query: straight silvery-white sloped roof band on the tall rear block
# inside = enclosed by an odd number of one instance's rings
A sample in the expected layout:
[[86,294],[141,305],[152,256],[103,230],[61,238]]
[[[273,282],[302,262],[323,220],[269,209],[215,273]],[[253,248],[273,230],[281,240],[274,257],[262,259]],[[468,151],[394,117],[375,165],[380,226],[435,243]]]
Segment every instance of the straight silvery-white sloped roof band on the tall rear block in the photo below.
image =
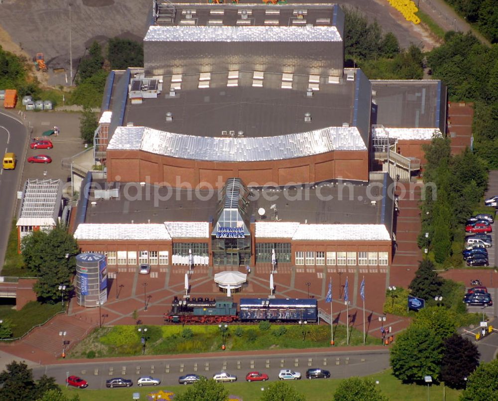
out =
[[335,26],[149,26],[145,42],[340,42]]

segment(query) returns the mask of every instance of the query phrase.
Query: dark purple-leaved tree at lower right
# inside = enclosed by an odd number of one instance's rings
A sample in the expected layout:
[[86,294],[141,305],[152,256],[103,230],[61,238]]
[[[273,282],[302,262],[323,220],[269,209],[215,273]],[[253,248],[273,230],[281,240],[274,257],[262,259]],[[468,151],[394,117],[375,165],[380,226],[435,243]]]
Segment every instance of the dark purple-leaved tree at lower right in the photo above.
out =
[[452,389],[464,389],[465,378],[479,366],[477,346],[467,338],[453,334],[444,341],[444,355],[441,360],[441,380]]

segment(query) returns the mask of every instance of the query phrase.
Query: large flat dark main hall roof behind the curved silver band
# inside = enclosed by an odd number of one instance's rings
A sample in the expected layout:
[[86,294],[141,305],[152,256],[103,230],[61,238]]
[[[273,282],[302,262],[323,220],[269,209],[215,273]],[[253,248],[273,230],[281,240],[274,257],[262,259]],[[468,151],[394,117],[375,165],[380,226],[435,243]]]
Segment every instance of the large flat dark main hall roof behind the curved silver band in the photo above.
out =
[[[199,75],[183,75],[182,89],[174,98],[169,97],[171,77],[165,76],[164,93],[157,99],[144,99],[141,105],[128,101],[124,125],[200,136],[243,131],[249,137],[352,125],[353,81],[326,84],[322,77],[320,90],[307,97],[308,75],[294,75],[295,89],[281,89],[282,74],[264,74],[262,88],[252,87],[252,74],[240,72],[239,86],[227,87],[228,71],[212,73],[210,88],[204,89],[197,88]],[[166,122],[167,112],[173,114],[172,122]],[[311,113],[310,123],[304,122],[305,113]]]

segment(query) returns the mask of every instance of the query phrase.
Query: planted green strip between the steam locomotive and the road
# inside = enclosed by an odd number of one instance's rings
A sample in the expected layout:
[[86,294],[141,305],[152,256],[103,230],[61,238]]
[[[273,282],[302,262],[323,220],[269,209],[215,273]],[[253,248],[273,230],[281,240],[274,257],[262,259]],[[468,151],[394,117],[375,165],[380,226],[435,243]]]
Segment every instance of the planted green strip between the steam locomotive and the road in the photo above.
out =
[[[330,347],[330,326],[319,325],[228,325],[226,347],[230,351]],[[346,327],[334,326],[336,345],[347,345]],[[147,326],[147,355],[221,352],[222,336],[217,325]],[[350,345],[363,344],[363,332],[350,328]],[[368,345],[379,340],[367,337]],[[92,352],[93,351],[93,352]],[[102,358],[139,355],[142,352],[136,326],[98,328],[71,350],[69,358],[90,355]]]

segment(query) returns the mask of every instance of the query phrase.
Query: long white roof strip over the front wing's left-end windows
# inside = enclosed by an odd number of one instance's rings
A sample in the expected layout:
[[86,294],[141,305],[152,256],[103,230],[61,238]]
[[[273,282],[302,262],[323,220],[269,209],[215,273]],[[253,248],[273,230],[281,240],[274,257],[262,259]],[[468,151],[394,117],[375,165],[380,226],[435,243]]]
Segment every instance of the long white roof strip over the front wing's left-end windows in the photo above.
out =
[[88,224],[74,233],[77,240],[171,240],[164,224]]

